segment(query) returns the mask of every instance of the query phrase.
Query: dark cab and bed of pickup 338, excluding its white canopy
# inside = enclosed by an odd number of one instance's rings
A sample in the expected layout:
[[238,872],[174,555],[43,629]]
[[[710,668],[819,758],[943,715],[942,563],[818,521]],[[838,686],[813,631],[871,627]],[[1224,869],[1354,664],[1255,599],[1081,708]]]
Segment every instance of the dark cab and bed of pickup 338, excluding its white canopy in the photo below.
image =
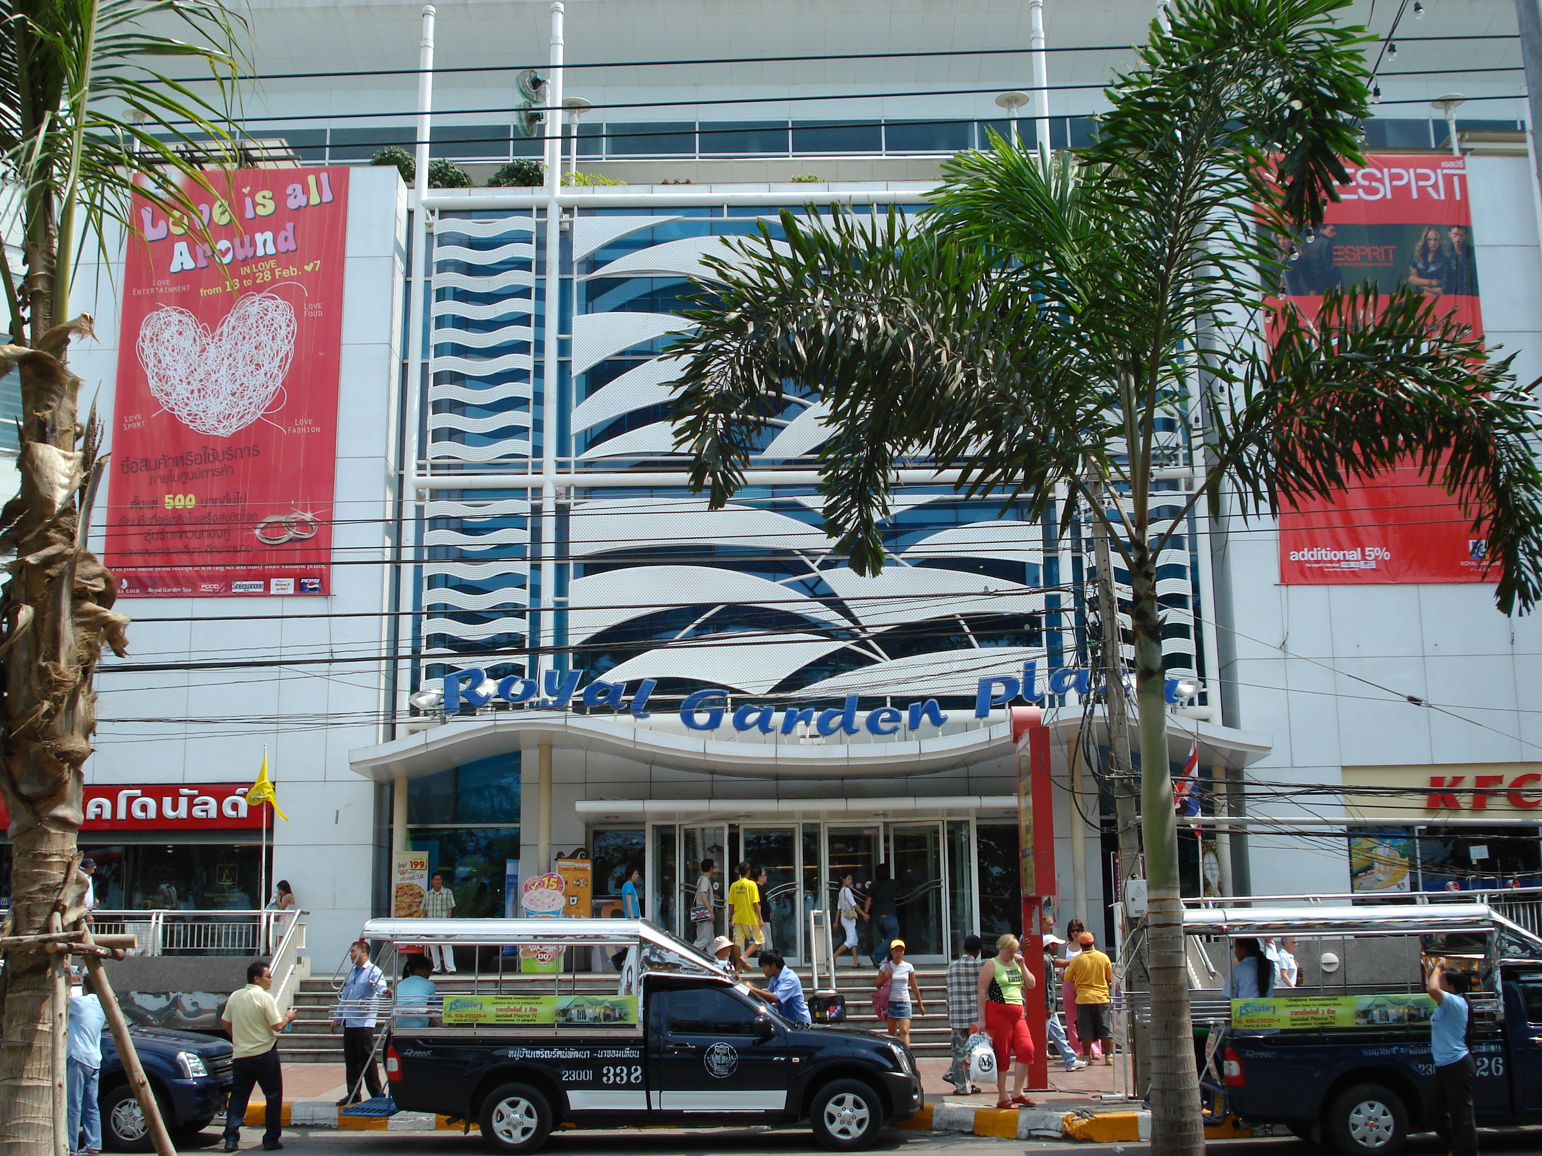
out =
[[[910,1050],[890,1036],[790,1023],[725,977],[652,973],[641,1023],[538,1031],[415,1030],[386,1051],[401,1108],[481,1127],[497,1153],[540,1148],[560,1124],[797,1125],[822,1145],[865,1148],[922,1105]],[[453,1000],[446,999],[452,1016]]]

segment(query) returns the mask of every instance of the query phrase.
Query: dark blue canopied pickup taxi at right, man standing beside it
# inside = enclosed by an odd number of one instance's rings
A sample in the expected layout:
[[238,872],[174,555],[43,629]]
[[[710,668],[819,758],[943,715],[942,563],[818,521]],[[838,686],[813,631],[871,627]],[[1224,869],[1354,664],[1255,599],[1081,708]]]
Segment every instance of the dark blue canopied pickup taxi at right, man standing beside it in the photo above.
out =
[[[1318,939],[1337,948],[1332,954],[1321,949],[1335,969],[1338,957],[1349,954],[1346,943],[1396,934],[1417,937],[1419,956],[1465,959],[1479,980],[1470,996],[1477,1124],[1542,1124],[1542,939],[1474,903],[1224,914],[1189,912],[1198,919],[1186,920],[1186,929],[1232,939]],[[1317,979],[1311,988],[1283,990],[1291,994],[1277,990],[1271,999],[1234,1000],[1231,1022],[1217,1027],[1201,1082],[1243,1124],[1284,1125],[1345,1156],[1394,1156],[1411,1133],[1429,1128],[1423,1105],[1434,1065],[1426,997],[1417,994],[1412,977],[1399,994],[1368,994],[1374,985],[1355,994],[1354,983]],[[1195,993],[1197,1008],[1206,1006],[1204,994]],[[1278,1027],[1258,1030],[1257,1023],[1269,1022],[1258,1017],[1260,1010],[1275,1016]],[[1326,1027],[1288,1027],[1295,1013],[1321,1016]]]

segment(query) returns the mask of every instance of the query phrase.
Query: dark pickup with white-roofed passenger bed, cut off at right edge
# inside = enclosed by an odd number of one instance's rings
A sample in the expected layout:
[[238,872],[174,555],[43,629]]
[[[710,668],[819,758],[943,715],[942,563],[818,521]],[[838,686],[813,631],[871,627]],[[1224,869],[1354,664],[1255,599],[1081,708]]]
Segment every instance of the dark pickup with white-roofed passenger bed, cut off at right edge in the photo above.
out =
[[[1542,939],[1486,903],[1190,909],[1200,1082],[1214,1116],[1280,1124],[1345,1156],[1394,1156],[1431,1128],[1429,966],[1466,971],[1473,1105],[1485,1125],[1542,1124]],[[1537,896],[1517,896],[1534,920]],[[1221,986],[1237,940],[1295,939],[1295,988]],[[1251,979],[1252,971],[1246,973]],[[1207,979],[1206,979],[1207,977]]]

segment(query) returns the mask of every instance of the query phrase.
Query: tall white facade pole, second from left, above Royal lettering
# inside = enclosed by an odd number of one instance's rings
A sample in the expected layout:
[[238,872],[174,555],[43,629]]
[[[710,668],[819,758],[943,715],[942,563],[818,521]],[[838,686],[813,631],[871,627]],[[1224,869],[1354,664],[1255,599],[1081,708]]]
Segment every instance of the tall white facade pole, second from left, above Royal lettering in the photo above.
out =
[[[547,481],[541,486],[541,596],[530,609],[540,609],[541,629],[537,644],[541,647],[535,674],[550,669],[555,661],[555,615],[554,587],[557,584],[557,484],[549,481],[557,473],[557,382],[561,370],[557,359],[558,333],[561,331],[563,301],[563,0],[552,0],[552,68],[546,80],[546,327],[541,355],[541,473]],[[546,865],[543,871],[549,869]]]

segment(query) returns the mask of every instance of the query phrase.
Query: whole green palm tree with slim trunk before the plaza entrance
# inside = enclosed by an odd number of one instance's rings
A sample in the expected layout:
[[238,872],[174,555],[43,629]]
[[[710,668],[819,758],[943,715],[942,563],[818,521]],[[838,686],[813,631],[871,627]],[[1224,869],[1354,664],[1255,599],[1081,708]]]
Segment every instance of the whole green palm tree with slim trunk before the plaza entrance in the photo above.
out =
[[[919,222],[782,216],[719,260],[680,339],[678,445],[720,506],[782,391],[830,410],[825,518],[884,566],[894,470],[971,495],[1072,495],[1130,576],[1152,982],[1152,1147],[1200,1153],[1164,728],[1156,560],[1189,510],[1332,498],[1412,461],[1486,538],[1507,613],[1542,596],[1531,399],[1419,293],[1271,297],[1277,237],[1323,220],[1368,114],[1343,0],[1178,0],[1115,79],[1098,142],[1053,162],[999,139],[945,165]],[[1289,244],[1289,242],[1288,242]],[[1272,341],[1266,341],[1272,338]],[[1195,415],[1198,415],[1195,418]],[[1153,475],[1186,461],[1173,519]],[[1167,498],[1169,495],[1164,495]]]

